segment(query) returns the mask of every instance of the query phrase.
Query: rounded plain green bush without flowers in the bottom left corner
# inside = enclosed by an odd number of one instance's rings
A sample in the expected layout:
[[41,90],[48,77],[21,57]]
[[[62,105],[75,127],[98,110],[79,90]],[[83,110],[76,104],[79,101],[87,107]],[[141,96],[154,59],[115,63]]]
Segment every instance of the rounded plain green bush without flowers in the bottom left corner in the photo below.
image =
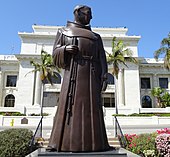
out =
[[28,129],[7,129],[0,132],[0,157],[24,157],[30,153],[33,132]]

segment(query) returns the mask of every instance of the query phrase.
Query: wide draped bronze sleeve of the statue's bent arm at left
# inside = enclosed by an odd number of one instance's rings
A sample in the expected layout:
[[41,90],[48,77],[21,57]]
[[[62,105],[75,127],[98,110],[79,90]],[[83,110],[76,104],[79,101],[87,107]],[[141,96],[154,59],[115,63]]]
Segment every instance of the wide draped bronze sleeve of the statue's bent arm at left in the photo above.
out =
[[59,29],[56,35],[52,54],[54,65],[58,68],[64,69],[67,65],[65,47],[64,35],[62,34],[62,30]]

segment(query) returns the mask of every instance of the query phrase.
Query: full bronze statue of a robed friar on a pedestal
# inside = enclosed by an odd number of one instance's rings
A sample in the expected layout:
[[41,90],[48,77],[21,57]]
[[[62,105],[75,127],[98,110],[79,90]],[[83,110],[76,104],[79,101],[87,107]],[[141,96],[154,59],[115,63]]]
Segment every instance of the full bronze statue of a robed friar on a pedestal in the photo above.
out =
[[106,89],[107,62],[99,34],[90,28],[91,8],[74,9],[74,22],[57,32],[54,64],[65,69],[48,150],[106,151],[108,144],[101,91]]

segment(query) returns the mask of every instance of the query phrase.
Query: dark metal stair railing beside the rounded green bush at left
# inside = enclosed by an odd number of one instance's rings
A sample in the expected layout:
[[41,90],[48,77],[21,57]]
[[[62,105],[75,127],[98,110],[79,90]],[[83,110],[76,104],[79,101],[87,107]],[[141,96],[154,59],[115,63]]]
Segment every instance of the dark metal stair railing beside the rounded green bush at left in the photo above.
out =
[[35,146],[35,138],[37,136],[37,133],[38,133],[39,129],[40,129],[39,137],[42,137],[42,120],[43,120],[43,116],[41,116],[41,119],[40,119],[40,121],[39,121],[39,123],[37,125],[37,128],[36,128],[35,132],[34,132],[34,135],[33,135],[32,139],[30,141],[29,147],[30,147],[31,152],[33,151],[33,147]]

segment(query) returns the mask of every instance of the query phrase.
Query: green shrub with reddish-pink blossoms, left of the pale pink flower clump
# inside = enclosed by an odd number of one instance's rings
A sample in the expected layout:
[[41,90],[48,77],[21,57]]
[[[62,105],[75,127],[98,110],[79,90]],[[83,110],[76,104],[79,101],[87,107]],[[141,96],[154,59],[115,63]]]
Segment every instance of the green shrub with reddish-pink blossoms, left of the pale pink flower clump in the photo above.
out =
[[127,141],[126,149],[135,153],[135,154],[143,154],[151,150],[152,152],[157,152],[155,147],[155,138],[157,133],[148,133],[148,134],[125,134],[125,139]]

